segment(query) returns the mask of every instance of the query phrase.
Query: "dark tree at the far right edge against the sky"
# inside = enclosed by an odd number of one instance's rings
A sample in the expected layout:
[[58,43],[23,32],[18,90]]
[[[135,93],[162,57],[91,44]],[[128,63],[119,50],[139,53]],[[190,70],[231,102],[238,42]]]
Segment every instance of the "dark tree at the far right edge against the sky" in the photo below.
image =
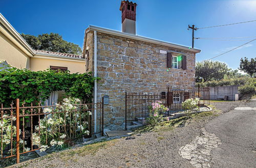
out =
[[252,75],[256,73],[256,58],[251,58],[251,61],[249,61],[246,57],[244,59],[241,58],[239,69],[248,73],[250,77],[252,77]]

